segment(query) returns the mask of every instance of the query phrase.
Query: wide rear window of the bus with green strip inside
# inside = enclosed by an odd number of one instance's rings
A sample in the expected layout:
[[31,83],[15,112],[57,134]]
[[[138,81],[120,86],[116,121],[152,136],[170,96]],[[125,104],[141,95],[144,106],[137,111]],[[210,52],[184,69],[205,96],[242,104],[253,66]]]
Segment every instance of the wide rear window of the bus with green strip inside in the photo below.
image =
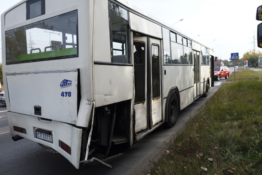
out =
[[77,10],[5,34],[6,64],[78,57]]

